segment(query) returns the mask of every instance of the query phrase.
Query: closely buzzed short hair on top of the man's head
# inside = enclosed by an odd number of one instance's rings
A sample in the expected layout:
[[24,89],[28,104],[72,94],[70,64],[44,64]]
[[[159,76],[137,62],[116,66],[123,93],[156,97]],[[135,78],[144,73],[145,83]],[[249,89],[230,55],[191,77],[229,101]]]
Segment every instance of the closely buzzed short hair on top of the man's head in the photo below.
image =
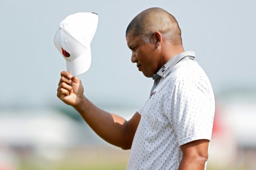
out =
[[173,45],[182,45],[181,29],[177,20],[167,11],[153,7],[139,13],[126,29],[126,36],[133,31],[133,36],[140,35],[148,43],[155,31],[159,31]]

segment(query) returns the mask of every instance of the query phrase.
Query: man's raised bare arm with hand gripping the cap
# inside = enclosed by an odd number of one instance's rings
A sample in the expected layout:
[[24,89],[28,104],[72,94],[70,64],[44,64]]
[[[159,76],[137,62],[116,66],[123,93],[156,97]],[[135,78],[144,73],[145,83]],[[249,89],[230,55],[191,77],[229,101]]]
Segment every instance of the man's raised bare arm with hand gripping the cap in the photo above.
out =
[[122,149],[130,149],[134,134],[140,122],[136,112],[126,121],[124,118],[108,113],[91,103],[84,95],[81,80],[61,72],[57,96],[66,104],[73,106],[86,123],[105,141]]

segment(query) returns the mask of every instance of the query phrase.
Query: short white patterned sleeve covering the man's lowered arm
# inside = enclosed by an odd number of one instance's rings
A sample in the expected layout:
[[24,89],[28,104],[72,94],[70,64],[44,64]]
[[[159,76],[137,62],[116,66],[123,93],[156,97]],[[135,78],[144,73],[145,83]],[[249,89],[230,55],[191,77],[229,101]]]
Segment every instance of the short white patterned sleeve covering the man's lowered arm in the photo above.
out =
[[183,79],[175,82],[168,103],[168,119],[176,133],[179,145],[198,140],[211,140],[214,98],[212,87],[202,79]]

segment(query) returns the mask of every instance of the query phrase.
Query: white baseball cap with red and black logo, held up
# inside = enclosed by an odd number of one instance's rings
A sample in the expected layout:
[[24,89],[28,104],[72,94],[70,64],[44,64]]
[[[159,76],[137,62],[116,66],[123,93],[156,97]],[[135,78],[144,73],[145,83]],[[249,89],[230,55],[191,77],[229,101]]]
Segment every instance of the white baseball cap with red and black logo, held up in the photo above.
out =
[[69,15],[60,22],[54,44],[72,77],[85,73],[91,65],[90,43],[97,25],[98,15],[89,12]]

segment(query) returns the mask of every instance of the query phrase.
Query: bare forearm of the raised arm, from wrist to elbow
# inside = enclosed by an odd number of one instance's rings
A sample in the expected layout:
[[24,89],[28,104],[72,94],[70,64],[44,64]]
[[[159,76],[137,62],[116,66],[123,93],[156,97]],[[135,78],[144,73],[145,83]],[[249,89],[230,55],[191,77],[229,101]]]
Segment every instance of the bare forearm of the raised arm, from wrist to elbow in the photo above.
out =
[[115,114],[96,107],[84,97],[81,104],[74,107],[85,122],[105,141],[120,148],[127,149],[127,121]]

